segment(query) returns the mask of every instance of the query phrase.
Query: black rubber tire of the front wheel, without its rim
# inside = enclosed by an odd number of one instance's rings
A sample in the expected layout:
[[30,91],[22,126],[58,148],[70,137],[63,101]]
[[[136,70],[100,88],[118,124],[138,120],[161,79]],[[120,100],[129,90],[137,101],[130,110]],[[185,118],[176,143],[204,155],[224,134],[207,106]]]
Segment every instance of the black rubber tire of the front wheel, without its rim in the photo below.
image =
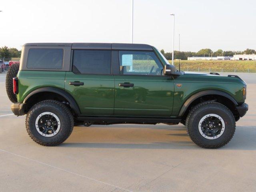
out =
[[[200,119],[207,114],[217,114],[225,122],[223,134],[216,139],[204,138],[199,130]],[[234,136],[236,130],[236,121],[232,112],[223,104],[218,102],[202,102],[190,110],[186,118],[186,129],[191,140],[202,148],[220,148],[226,145]]]

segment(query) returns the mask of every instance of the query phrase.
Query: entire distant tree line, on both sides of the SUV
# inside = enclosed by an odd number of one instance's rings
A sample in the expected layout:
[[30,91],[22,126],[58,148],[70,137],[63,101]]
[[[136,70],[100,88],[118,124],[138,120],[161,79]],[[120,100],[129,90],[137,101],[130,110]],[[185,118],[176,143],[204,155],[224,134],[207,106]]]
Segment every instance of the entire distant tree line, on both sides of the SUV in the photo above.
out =
[[[165,56],[166,59],[172,60],[172,52],[164,52],[161,50],[161,53]],[[235,54],[256,54],[256,51],[253,49],[246,49],[244,51],[223,51],[221,49],[213,52],[211,49],[201,49],[198,52],[190,51],[174,51],[174,59],[187,60],[188,57],[208,57],[208,56],[233,56]],[[21,50],[16,48],[8,48],[4,46],[0,48],[0,58],[20,58]]]

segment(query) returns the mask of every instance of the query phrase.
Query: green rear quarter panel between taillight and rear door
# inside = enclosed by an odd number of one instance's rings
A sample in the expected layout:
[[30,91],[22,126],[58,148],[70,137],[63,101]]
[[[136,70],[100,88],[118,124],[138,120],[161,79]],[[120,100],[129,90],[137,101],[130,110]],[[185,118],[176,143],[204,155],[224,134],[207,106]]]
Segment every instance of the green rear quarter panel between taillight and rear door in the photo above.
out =
[[64,90],[66,72],[56,71],[29,71],[18,72],[19,93],[18,102],[22,103],[28,94],[42,87],[56,87]]

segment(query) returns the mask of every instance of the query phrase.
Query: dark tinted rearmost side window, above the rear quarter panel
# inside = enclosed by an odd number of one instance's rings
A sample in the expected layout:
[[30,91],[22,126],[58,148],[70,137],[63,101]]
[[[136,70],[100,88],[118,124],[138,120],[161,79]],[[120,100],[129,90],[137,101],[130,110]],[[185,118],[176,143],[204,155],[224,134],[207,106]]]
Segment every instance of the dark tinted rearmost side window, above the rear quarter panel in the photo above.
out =
[[63,49],[30,49],[27,68],[62,69]]

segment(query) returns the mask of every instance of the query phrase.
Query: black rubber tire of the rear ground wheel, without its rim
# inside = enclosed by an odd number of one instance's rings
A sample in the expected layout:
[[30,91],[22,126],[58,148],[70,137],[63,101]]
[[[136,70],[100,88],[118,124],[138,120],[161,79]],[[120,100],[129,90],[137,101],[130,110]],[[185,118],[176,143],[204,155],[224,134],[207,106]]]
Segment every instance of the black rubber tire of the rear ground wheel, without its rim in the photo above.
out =
[[[60,130],[52,137],[42,136],[36,130],[36,118],[43,112],[52,112],[60,119]],[[44,100],[35,104],[26,116],[26,130],[34,142],[43,146],[56,146],[64,142],[72,133],[74,117],[67,106],[56,100]]]

